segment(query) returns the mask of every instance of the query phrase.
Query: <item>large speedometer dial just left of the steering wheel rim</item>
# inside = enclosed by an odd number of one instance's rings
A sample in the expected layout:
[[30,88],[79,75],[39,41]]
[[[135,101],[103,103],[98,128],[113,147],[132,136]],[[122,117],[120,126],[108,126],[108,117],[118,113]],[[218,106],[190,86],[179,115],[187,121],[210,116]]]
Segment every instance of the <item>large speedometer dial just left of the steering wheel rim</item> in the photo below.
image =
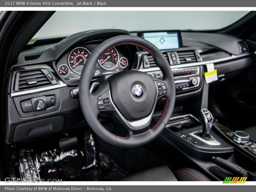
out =
[[73,49],[68,56],[68,65],[71,70],[81,74],[84,64],[90,54],[91,53],[83,47]]

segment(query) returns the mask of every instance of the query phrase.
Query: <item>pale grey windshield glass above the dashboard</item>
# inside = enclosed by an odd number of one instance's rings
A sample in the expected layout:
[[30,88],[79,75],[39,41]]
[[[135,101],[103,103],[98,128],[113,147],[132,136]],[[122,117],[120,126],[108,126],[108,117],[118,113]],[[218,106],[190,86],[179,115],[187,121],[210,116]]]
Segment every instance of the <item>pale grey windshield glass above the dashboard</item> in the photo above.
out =
[[57,11],[33,38],[65,37],[92,29],[217,30],[248,11]]

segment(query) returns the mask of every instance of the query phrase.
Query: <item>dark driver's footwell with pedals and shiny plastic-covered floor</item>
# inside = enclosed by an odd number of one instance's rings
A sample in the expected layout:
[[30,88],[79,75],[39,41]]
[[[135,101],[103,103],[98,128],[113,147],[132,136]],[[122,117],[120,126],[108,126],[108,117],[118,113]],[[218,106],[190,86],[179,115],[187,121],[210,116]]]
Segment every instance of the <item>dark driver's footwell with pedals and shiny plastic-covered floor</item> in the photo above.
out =
[[92,134],[86,133],[83,146],[77,138],[65,138],[60,148],[42,153],[19,152],[20,179],[63,181],[115,181],[128,175],[106,154],[97,152]]

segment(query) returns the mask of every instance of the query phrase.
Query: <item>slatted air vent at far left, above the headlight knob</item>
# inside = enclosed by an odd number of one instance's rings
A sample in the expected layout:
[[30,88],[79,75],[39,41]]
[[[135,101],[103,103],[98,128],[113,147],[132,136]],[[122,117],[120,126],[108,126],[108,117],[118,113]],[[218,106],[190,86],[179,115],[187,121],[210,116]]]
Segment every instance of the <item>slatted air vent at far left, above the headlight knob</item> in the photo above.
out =
[[15,76],[14,91],[39,88],[47,85],[58,84],[47,69],[33,69],[20,71]]

